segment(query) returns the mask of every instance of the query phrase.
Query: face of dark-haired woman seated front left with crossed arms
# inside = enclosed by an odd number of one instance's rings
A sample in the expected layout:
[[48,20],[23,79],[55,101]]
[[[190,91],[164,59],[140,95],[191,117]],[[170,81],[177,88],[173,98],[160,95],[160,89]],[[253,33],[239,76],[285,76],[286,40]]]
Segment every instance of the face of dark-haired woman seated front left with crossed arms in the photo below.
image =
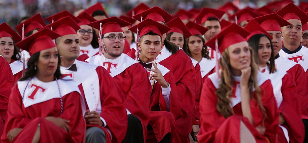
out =
[[58,50],[57,47],[42,50],[39,54],[39,60],[35,63],[37,73],[40,75],[54,75],[58,67]]

